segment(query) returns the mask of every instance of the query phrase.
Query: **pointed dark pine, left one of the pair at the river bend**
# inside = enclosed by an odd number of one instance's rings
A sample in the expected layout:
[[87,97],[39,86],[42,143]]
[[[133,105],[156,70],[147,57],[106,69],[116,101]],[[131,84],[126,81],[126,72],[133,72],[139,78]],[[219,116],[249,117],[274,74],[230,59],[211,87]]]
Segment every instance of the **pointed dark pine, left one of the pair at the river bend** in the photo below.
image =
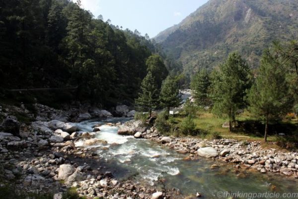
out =
[[141,90],[136,103],[142,110],[149,111],[151,117],[152,110],[158,105],[158,89],[151,72],[142,81]]

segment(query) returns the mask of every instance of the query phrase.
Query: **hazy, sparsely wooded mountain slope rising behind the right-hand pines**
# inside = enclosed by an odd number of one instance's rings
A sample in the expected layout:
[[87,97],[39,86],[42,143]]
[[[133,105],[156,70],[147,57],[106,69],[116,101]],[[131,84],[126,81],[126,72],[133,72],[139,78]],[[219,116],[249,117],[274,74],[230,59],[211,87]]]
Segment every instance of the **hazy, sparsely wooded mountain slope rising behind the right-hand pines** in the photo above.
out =
[[154,39],[192,74],[239,51],[252,68],[273,40],[298,38],[297,0],[209,0]]

